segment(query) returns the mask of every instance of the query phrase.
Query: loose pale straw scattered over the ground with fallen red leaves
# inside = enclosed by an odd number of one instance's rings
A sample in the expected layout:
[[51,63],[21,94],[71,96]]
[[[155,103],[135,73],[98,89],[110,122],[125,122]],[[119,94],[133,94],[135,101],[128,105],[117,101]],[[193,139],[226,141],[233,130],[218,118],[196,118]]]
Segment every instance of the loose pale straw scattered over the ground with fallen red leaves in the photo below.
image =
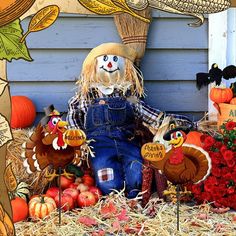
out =
[[[101,209],[108,203],[116,208],[114,215],[105,217]],[[113,207],[114,211],[114,207]],[[124,220],[118,215],[125,211]],[[206,217],[202,217],[202,215]],[[209,205],[180,205],[180,231],[176,230],[176,205],[153,197],[145,208],[138,199],[126,199],[123,193],[111,194],[96,206],[63,213],[62,224],[58,225],[58,213],[46,220],[16,223],[16,235],[236,235],[235,212],[215,214]],[[80,223],[81,217],[89,217],[95,224]]]

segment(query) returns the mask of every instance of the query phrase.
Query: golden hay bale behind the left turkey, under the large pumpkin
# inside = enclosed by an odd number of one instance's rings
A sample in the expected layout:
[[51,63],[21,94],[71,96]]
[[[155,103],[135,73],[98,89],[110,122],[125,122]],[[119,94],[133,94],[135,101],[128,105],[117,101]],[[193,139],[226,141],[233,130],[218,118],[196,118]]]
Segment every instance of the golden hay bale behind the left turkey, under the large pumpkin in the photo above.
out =
[[42,172],[28,174],[23,166],[24,159],[21,157],[22,144],[26,142],[33,129],[13,129],[13,141],[7,146],[6,163],[12,163],[12,169],[19,182],[26,182],[30,186],[31,195],[42,193],[48,185],[44,177],[46,169]]

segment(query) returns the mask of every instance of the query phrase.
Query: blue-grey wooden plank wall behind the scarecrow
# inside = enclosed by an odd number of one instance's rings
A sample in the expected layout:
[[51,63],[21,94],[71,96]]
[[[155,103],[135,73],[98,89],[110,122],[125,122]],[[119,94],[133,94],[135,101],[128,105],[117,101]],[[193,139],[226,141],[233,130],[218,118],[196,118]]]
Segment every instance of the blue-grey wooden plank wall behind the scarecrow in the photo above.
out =
[[[141,69],[150,105],[196,120],[207,111],[207,88],[196,89],[195,74],[208,68],[208,24],[191,28],[193,20],[156,11]],[[24,30],[28,23],[23,21]],[[51,103],[66,111],[84,58],[104,42],[120,42],[111,16],[61,15],[52,27],[28,36],[33,62],[8,63],[11,94],[29,96],[39,114]]]

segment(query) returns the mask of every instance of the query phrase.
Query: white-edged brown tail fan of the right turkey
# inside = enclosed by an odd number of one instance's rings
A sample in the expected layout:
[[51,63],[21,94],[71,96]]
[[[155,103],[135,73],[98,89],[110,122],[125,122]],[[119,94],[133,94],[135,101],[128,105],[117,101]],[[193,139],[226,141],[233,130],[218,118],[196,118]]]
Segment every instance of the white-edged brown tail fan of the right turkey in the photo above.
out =
[[184,155],[189,158],[197,167],[197,173],[193,178],[193,183],[198,184],[205,180],[211,172],[211,158],[201,147],[191,144],[182,146]]

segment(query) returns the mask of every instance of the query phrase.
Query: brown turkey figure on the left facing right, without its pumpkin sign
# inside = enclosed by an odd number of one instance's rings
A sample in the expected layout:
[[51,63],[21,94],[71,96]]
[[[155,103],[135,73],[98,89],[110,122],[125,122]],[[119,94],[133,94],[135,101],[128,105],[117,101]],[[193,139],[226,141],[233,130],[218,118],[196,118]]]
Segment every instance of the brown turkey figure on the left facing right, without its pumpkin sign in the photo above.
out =
[[[48,166],[53,169],[52,174],[46,173],[46,177],[52,180],[58,176],[56,170],[64,169],[70,163],[78,163],[78,152],[74,147],[67,145],[64,134],[67,130],[67,122],[62,121],[61,114],[53,105],[45,108],[46,116],[42,118],[29,140],[23,143],[23,165],[29,174],[42,171]],[[64,170],[63,175],[70,177],[72,174]]]

